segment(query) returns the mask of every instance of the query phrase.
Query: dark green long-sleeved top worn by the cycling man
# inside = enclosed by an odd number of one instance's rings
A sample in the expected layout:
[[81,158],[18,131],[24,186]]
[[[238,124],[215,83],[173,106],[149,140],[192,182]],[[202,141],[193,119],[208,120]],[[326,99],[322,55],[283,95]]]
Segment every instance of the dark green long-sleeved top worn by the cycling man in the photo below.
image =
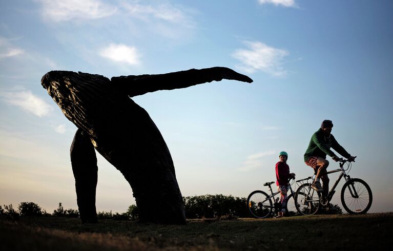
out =
[[332,152],[330,148],[333,148],[336,152],[345,158],[350,157],[350,154],[345,151],[343,147],[341,147],[332,134],[330,134],[329,137],[325,137],[322,129],[319,129],[311,137],[308,148],[304,154],[304,161],[307,161],[308,158],[312,156],[317,156],[324,159],[326,159],[326,155],[329,155],[330,157],[336,156],[336,154]]

